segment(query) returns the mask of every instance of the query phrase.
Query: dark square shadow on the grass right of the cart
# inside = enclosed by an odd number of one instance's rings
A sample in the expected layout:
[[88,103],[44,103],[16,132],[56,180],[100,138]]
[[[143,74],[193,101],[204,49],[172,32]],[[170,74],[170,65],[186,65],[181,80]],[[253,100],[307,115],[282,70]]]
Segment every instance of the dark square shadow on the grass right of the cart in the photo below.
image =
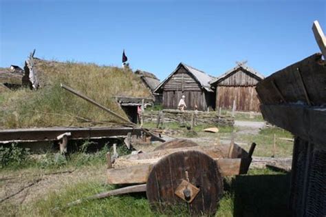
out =
[[290,174],[236,176],[229,185],[233,216],[291,216]]

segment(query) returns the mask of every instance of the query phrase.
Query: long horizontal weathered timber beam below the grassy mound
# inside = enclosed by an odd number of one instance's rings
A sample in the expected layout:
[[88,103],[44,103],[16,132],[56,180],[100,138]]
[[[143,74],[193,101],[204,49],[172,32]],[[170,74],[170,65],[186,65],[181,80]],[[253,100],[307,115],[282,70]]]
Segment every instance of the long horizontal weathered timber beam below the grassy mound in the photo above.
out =
[[55,141],[57,136],[70,132],[69,139],[108,138],[127,136],[129,132],[140,135],[142,129],[132,127],[47,127],[0,130],[0,141]]

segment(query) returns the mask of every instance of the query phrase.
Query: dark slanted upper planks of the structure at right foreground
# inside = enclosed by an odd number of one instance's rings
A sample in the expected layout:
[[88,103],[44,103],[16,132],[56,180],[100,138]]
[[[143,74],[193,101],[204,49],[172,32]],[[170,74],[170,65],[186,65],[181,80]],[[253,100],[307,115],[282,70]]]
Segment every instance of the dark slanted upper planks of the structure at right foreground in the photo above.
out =
[[[302,76],[305,89],[300,76]],[[284,100],[286,103],[307,104],[305,92],[312,105],[324,105],[326,102],[325,79],[325,61],[321,59],[321,54],[317,53],[268,76],[257,84],[256,90],[263,105],[276,105],[284,103]],[[273,82],[279,88],[284,100],[275,91]]]

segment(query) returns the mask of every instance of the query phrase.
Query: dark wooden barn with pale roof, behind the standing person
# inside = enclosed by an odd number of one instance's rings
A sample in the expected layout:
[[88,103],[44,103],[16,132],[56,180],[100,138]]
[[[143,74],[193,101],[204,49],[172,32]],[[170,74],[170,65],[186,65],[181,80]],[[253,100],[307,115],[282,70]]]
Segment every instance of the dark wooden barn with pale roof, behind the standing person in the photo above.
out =
[[164,108],[177,109],[182,95],[186,96],[187,110],[215,109],[215,95],[209,82],[213,76],[197,70],[189,65],[180,63],[177,68],[155,89],[162,94]]

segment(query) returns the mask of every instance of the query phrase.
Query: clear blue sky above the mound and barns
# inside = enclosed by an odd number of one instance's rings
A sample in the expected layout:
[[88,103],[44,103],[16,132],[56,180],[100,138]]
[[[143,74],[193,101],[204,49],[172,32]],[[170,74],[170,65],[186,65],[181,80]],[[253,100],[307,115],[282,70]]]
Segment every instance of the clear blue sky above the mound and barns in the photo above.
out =
[[265,75],[319,52],[326,1],[0,0],[0,67],[37,57],[168,76],[181,61],[218,76],[248,60]]

